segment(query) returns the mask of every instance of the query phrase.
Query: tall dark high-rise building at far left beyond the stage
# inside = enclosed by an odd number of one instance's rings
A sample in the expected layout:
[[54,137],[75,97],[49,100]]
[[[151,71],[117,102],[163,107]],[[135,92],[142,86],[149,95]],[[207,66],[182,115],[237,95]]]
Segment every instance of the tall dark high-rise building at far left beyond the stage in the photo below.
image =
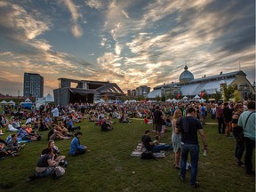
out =
[[40,74],[24,73],[24,97],[44,97],[44,77]]

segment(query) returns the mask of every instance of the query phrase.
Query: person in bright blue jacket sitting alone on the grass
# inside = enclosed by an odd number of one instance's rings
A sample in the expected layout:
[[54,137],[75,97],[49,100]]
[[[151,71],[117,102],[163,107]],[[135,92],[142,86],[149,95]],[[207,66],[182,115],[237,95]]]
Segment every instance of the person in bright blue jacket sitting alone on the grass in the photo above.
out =
[[74,139],[71,141],[71,146],[69,149],[69,154],[71,156],[77,156],[84,154],[86,152],[86,148],[83,145],[80,145],[80,138],[82,137],[82,132],[76,132]]

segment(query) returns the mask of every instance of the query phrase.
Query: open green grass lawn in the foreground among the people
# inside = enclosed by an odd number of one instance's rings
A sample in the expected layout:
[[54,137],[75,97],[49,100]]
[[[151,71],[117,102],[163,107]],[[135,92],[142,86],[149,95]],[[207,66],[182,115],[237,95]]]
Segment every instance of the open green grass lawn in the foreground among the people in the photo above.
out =
[[[243,167],[234,160],[235,140],[217,133],[216,120],[204,125],[208,139],[209,153],[199,158],[197,180],[200,188],[189,187],[189,172],[185,182],[179,180],[179,170],[172,167],[172,151],[166,158],[142,160],[130,156],[146,129],[151,125],[142,124],[141,119],[132,119],[131,124],[114,124],[114,131],[100,132],[100,127],[84,122],[81,144],[90,150],[85,155],[71,157],[68,148],[71,140],[57,140],[55,144],[61,154],[68,158],[66,173],[59,180],[52,178],[26,182],[33,174],[37,158],[47,147],[46,135],[43,140],[26,143],[20,156],[8,156],[0,161],[0,191],[255,191],[255,178],[247,176]],[[8,132],[1,138],[5,139]],[[162,142],[171,141],[171,132],[166,132]],[[154,136],[152,132],[151,137]],[[200,140],[201,142],[201,140]],[[200,145],[202,147],[202,144]],[[255,162],[255,153],[253,155]]]

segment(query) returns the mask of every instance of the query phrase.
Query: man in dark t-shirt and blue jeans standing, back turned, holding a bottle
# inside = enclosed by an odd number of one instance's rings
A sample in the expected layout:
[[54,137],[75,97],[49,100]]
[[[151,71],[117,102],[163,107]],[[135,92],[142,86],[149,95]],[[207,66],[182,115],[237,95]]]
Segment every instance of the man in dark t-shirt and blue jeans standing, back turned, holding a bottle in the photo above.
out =
[[200,185],[196,181],[199,160],[199,143],[197,139],[197,131],[204,143],[204,150],[208,151],[206,136],[203,131],[202,124],[196,119],[196,109],[188,108],[188,115],[181,117],[175,128],[177,133],[181,133],[181,170],[180,180],[185,180],[186,165],[188,153],[191,157],[190,186],[198,188]]

